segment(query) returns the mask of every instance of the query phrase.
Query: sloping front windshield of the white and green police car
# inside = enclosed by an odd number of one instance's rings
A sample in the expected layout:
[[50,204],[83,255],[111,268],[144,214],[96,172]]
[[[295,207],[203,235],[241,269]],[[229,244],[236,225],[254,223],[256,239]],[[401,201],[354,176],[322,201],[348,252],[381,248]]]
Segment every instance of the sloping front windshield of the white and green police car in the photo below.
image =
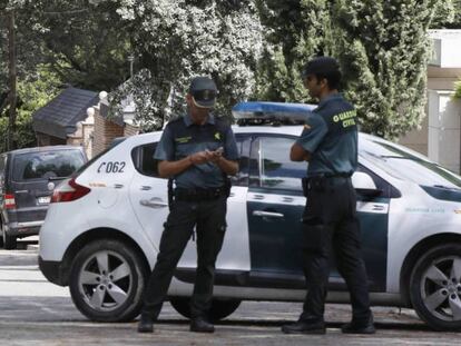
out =
[[399,145],[365,139],[360,156],[372,161],[391,176],[421,186],[461,188],[461,177],[429,161],[424,156]]

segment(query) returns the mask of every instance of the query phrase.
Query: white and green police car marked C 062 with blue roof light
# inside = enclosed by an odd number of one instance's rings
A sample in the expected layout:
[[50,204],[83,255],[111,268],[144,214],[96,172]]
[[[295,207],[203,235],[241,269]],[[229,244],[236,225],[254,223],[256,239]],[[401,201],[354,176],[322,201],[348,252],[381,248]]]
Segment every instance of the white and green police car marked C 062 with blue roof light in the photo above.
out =
[[[216,264],[214,319],[242,300],[304,299],[301,178],[288,158],[311,106],[245,102],[234,108],[241,170],[233,177],[227,230]],[[271,125],[267,125],[271,123]],[[53,192],[40,230],[39,265],[69,286],[92,320],[140,310],[168,214],[167,180],[153,154],[161,132],[134,136],[95,157]],[[434,329],[461,328],[461,177],[404,147],[360,135],[353,176],[372,304],[413,307]],[[196,247],[190,239],[168,295],[188,316]],[[346,303],[332,259],[328,301]]]

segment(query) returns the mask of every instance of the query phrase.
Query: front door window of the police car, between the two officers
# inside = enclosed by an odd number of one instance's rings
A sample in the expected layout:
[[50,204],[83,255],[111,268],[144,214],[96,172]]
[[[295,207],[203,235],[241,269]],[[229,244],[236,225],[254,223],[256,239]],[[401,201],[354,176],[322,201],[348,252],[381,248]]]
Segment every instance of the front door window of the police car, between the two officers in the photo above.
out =
[[251,185],[269,189],[301,190],[307,162],[290,160],[294,138],[258,137],[252,145]]

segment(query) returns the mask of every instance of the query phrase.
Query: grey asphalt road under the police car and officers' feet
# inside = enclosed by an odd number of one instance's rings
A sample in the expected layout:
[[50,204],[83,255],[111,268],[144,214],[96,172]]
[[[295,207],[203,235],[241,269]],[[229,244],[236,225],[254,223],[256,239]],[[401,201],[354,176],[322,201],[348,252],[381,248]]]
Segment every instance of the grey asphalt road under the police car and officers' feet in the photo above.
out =
[[165,304],[155,333],[138,334],[136,322],[86,319],[68,289],[40,274],[33,244],[27,250],[0,250],[1,345],[458,345],[461,338],[461,333],[432,332],[413,310],[392,307],[373,307],[375,335],[343,335],[340,326],[350,318],[346,305],[327,305],[324,336],[282,334],[281,326],[295,320],[300,310],[301,304],[245,301],[216,325],[215,334],[203,335],[189,333],[188,322]]

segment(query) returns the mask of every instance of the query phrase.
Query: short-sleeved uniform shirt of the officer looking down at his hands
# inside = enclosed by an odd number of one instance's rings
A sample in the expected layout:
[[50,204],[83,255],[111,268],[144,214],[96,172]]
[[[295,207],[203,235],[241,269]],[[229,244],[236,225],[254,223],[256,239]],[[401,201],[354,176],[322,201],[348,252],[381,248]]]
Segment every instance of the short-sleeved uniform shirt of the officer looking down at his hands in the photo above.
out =
[[[204,125],[196,125],[189,115],[185,115],[166,126],[154,158],[176,161],[192,154],[216,150],[219,147],[223,147],[226,159],[238,160],[237,145],[229,126],[212,115]],[[216,188],[225,182],[223,171],[213,162],[193,165],[174,179],[176,187],[185,189]]]

